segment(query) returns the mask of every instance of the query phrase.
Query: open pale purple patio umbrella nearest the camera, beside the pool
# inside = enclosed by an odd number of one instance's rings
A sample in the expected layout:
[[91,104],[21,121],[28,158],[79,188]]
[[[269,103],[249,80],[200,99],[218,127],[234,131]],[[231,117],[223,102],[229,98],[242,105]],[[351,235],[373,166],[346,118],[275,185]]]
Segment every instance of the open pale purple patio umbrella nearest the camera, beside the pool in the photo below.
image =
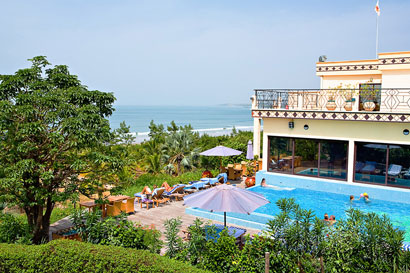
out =
[[267,203],[270,203],[269,200],[261,194],[227,184],[184,197],[184,205],[186,206],[205,209],[211,212],[223,212],[225,226],[227,212],[249,214]]

